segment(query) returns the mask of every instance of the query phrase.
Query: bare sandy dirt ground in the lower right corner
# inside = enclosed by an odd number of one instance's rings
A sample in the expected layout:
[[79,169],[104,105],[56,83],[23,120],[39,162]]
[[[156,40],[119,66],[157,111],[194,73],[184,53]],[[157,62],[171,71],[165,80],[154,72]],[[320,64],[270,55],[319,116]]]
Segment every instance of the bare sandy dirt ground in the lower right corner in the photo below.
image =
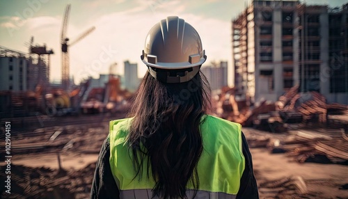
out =
[[[285,178],[301,177],[306,182],[307,193],[294,198],[348,198],[348,190],[341,187],[348,183],[347,166],[337,164],[299,164],[284,154],[270,154],[265,149],[251,149],[253,166],[259,184],[260,198],[292,198],[277,187],[273,191],[260,186],[262,182],[276,182]],[[341,189],[340,189],[341,188]]]

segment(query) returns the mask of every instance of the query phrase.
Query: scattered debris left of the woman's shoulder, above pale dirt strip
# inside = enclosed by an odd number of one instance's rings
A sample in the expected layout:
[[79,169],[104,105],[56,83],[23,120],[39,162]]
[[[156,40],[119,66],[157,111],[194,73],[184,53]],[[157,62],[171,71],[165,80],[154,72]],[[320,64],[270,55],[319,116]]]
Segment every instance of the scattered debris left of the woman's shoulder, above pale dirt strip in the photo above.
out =
[[[123,116],[123,115],[120,115]],[[71,118],[65,118],[71,120]],[[11,151],[18,155],[29,153],[53,153],[56,152],[85,152],[98,154],[100,142],[106,138],[109,132],[109,118],[100,116],[86,116],[84,118],[74,118],[73,123],[66,123],[65,127],[43,127],[32,132],[13,132]],[[53,121],[54,123],[57,121]],[[49,122],[44,122],[49,125]],[[84,124],[84,125],[81,125]],[[4,139],[5,134],[0,135]],[[0,143],[0,147],[5,148],[5,143]],[[3,157],[0,157],[2,159]]]

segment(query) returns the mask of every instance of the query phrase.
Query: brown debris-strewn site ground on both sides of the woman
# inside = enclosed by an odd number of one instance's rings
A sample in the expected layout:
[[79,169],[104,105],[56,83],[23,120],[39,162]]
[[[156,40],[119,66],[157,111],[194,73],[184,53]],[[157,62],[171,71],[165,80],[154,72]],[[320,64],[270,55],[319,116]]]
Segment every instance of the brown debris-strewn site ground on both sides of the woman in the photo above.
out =
[[[33,119],[26,131],[13,130],[11,194],[1,189],[0,198],[88,198],[95,162],[109,133],[109,120],[123,117],[125,114],[120,113],[41,118]],[[316,134],[315,129],[306,131]],[[286,139],[289,132],[271,134],[252,128],[243,132],[253,155],[260,198],[348,198],[347,165],[299,163],[288,153],[274,154],[255,144],[262,142],[262,137]],[[1,160],[0,172],[4,170]],[[4,177],[0,176],[1,182]]]

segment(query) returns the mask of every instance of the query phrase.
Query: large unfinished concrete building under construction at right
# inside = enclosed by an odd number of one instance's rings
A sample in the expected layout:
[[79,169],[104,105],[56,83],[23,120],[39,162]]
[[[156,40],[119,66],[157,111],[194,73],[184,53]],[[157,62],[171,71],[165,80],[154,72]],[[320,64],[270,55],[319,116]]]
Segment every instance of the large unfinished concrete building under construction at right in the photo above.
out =
[[235,87],[251,101],[276,101],[300,85],[348,104],[347,5],[254,0],[232,21]]

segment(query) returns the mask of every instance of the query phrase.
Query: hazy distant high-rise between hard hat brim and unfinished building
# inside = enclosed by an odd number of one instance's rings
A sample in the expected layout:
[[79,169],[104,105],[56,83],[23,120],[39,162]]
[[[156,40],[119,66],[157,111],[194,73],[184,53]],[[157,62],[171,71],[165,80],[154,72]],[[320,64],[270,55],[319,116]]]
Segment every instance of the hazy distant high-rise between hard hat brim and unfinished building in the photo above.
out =
[[201,70],[207,77],[212,90],[218,90],[223,86],[227,86],[227,61],[221,61],[220,65],[212,63],[212,65],[202,67]]

